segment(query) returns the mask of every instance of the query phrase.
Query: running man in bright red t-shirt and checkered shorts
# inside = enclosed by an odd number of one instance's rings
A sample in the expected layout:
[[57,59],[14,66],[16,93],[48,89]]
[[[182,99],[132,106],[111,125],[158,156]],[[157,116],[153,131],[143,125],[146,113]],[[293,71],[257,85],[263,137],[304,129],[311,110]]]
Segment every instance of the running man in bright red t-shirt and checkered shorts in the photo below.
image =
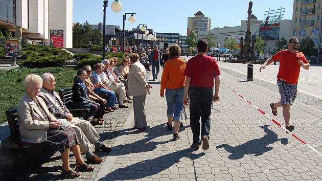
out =
[[290,38],[288,40],[288,49],[281,50],[273,57],[268,58],[260,67],[260,72],[262,72],[266,66],[276,60],[280,60],[277,84],[279,86],[281,100],[278,103],[271,103],[270,108],[272,109],[272,114],[277,116],[277,108],[283,107],[285,128],[290,132],[294,130],[294,126],[290,124],[290,107],[296,98],[297,80],[298,76],[300,76],[300,68],[302,66],[305,70],[310,69],[310,63],[307,61],[304,54],[297,51],[298,44],[297,38]]

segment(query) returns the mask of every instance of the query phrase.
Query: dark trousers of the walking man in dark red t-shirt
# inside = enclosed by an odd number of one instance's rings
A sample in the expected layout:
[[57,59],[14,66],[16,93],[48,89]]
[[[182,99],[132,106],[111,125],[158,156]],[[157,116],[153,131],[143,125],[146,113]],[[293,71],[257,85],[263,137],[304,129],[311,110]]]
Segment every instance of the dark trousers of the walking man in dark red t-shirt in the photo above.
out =
[[210,134],[210,114],[213,100],[213,87],[190,87],[190,127],[193,134],[193,143],[201,143],[200,140],[200,117],[201,136]]

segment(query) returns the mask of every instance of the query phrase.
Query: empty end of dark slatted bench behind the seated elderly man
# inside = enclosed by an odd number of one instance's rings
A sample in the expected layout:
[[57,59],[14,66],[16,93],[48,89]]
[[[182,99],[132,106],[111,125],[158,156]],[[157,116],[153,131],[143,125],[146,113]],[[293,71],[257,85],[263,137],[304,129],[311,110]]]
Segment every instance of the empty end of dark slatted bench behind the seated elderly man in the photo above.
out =
[[67,109],[70,110],[73,117],[83,117],[83,114],[88,114],[90,112],[90,108],[75,108],[72,100],[72,87],[62,88],[58,92],[60,99],[65,103]]

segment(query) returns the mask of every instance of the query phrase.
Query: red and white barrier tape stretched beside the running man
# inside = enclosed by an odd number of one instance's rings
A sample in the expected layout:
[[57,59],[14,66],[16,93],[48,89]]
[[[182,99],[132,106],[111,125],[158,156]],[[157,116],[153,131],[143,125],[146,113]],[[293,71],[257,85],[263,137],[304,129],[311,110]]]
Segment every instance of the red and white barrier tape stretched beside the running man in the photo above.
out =
[[[227,85],[226,85],[227,86]],[[299,137],[297,137],[297,135],[295,135],[294,133],[290,132],[289,130],[287,130],[284,126],[282,126],[281,123],[279,123],[278,121],[274,120],[272,117],[270,117],[269,115],[266,114],[265,111],[263,111],[261,108],[258,108],[256,105],[254,105],[253,103],[251,103],[249,100],[245,99],[243,95],[237,93],[234,89],[232,89],[231,87],[227,86],[229,89],[233,90],[234,93],[236,93],[239,97],[241,97],[242,99],[244,99],[248,104],[252,105],[253,107],[256,108],[256,110],[258,110],[262,115],[266,115],[273,123],[275,123],[276,125],[278,125],[280,128],[284,129],[285,131],[287,131],[288,133],[291,133],[292,137],[294,137],[296,140],[300,141],[301,143],[303,143],[304,145],[308,146],[311,150],[313,150],[314,152],[316,152],[318,155],[322,156],[322,154],[320,152],[318,152],[316,149],[314,149],[311,145],[309,145],[306,141],[300,139]]]

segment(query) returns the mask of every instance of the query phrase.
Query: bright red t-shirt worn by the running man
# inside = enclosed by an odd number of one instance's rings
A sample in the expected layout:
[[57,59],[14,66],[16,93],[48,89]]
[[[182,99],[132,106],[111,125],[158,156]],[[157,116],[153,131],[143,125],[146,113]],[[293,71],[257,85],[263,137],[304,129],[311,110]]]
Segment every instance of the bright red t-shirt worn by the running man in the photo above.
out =
[[272,59],[274,61],[280,60],[278,78],[282,78],[290,84],[297,83],[298,76],[300,76],[301,65],[298,64],[298,60],[309,63],[302,52],[292,53],[286,49],[276,53]]

